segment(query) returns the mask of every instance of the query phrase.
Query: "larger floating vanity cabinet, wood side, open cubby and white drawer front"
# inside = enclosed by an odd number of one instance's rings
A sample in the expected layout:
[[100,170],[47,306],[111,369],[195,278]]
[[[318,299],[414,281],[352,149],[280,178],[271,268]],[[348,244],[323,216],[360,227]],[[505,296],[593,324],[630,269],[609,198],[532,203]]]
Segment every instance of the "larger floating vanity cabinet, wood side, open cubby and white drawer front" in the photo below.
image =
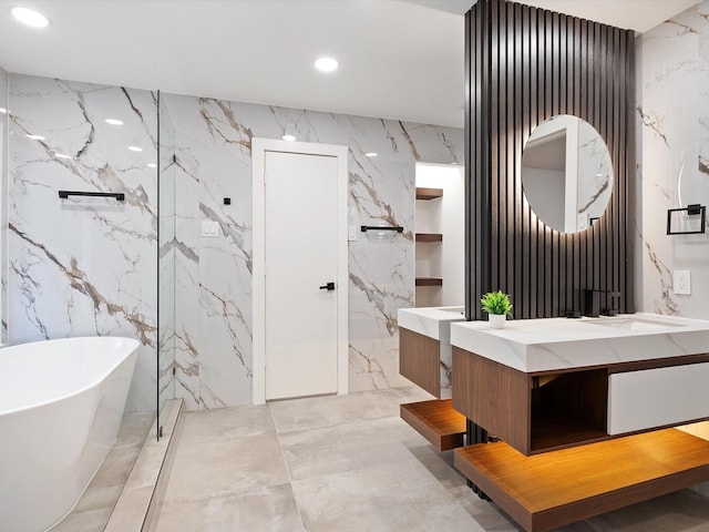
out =
[[[707,419],[709,392],[701,382],[709,376],[708,360],[709,355],[693,355],[527,374],[453,346],[453,408],[520,452],[537,454]],[[619,393],[625,382],[645,385],[656,374],[671,378],[656,389],[636,385]],[[693,388],[690,376],[698,382]],[[609,393],[609,382],[615,393]],[[609,412],[614,421],[639,418],[653,400],[659,402],[644,424],[609,422]],[[662,412],[666,405],[660,403],[667,402],[676,402],[675,410],[686,416]],[[620,428],[609,430],[614,424]]]

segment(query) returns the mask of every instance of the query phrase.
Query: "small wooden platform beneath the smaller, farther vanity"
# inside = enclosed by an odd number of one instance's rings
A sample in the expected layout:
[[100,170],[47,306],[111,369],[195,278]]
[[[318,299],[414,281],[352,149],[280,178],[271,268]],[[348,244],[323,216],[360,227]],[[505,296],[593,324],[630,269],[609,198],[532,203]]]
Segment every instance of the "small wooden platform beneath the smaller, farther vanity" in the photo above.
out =
[[400,416],[439,451],[463,447],[465,416],[453,409],[452,399],[401,405]]

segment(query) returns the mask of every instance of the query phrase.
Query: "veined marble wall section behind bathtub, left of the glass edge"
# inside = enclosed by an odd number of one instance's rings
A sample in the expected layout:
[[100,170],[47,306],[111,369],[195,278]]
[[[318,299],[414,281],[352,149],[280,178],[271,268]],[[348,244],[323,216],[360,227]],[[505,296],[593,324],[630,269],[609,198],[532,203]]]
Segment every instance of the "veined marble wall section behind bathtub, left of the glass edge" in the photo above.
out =
[[8,339],[140,339],[129,411],[155,409],[156,112],[148,91],[10,75]]

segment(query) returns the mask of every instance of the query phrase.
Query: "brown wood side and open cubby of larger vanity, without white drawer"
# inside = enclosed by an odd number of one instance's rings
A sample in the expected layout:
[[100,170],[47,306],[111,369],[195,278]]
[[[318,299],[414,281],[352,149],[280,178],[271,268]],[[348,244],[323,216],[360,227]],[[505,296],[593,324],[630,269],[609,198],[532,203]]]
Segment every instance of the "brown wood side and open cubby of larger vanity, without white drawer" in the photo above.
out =
[[605,368],[525,374],[453,347],[453,408],[524,454],[607,438]]

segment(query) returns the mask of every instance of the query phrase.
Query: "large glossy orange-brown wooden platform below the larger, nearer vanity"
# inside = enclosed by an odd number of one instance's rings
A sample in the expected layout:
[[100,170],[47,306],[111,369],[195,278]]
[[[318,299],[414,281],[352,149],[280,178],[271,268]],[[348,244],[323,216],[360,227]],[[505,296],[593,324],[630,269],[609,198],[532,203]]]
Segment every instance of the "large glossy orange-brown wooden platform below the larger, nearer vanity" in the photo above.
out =
[[709,441],[664,429],[531,457],[495,442],[456,449],[454,463],[540,532],[709,480]]

